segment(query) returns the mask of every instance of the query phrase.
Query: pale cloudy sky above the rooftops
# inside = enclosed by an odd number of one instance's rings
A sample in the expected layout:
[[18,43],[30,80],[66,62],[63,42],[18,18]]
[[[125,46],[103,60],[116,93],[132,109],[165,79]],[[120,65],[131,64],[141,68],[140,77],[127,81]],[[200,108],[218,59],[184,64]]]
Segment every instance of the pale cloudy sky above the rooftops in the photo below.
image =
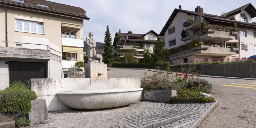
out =
[[[256,7],[256,1],[250,0],[49,0],[76,7],[86,11],[90,20],[84,20],[84,38],[89,32],[94,33],[96,42],[104,42],[107,25],[110,28],[112,41],[115,32],[145,34],[150,30],[160,33],[166,21],[175,8],[195,11],[196,6],[203,7],[203,12],[221,15],[238,7],[251,3]],[[256,18],[253,18],[256,22]]]

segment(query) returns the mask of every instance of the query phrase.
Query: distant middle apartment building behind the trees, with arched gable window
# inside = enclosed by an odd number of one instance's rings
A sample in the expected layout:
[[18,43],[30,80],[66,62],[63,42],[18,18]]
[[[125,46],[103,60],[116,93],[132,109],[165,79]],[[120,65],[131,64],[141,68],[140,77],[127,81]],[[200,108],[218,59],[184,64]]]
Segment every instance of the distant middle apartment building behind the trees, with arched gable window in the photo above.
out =
[[[153,47],[157,41],[157,38],[160,37],[162,42],[164,37],[159,36],[153,30],[150,30],[146,34],[134,34],[131,31],[128,33],[115,33],[115,36],[121,37],[118,40],[114,40],[113,46],[115,46],[115,52],[117,53],[117,57],[123,60],[126,53],[134,53],[134,59],[139,61],[139,59],[143,59],[143,51],[145,48],[149,48],[151,52],[153,52]],[[128,38],[128,39],[127,39]],[[125,59],[123,60],[125,61]]]

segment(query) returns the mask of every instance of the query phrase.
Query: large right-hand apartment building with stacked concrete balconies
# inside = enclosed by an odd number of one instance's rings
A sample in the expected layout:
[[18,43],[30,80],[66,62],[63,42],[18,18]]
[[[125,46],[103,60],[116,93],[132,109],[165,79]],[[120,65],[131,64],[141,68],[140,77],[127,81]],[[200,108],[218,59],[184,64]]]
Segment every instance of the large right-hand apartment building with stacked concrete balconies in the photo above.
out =
[[[200,48],[171,54],[169,61],[172,63],[242,59],[256,54],[256,23],[252,22],[255,16],[256,9],[251,3],[221,16],[204,13],[200,6],[195,11],[188,11],[179,5],[159,35],[164,36],[165,47],[168,49],[194,40],[197,44],[203,42]],[[205,30],[201,30],[203,22],[208,26]],[[186,37],[182,38],[183,29],[187,32]]]

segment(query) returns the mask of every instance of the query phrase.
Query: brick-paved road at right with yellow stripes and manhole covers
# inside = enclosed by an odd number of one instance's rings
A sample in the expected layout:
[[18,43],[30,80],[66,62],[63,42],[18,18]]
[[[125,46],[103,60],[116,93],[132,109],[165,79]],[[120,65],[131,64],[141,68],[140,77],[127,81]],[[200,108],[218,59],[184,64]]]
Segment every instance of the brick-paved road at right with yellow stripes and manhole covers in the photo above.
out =
[[[208,115],[200,127],[256,128],[255,87],[255,80],[214,85],[212,95],[218,100],[219,105]],[[225,110],[222,107],[228,109]],[[248,110],[249,113],[245,113],[244,110]],[[246,119],[241,119],[238,116],[245,116]]]

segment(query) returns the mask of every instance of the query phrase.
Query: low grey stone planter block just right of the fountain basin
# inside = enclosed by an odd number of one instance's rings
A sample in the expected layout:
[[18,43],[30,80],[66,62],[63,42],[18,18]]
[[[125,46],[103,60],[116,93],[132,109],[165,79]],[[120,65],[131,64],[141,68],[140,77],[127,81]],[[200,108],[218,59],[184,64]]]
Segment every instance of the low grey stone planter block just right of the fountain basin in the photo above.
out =
[[143,100],[169,102],[173,96],[177,96],[176,90],[143,90]]

